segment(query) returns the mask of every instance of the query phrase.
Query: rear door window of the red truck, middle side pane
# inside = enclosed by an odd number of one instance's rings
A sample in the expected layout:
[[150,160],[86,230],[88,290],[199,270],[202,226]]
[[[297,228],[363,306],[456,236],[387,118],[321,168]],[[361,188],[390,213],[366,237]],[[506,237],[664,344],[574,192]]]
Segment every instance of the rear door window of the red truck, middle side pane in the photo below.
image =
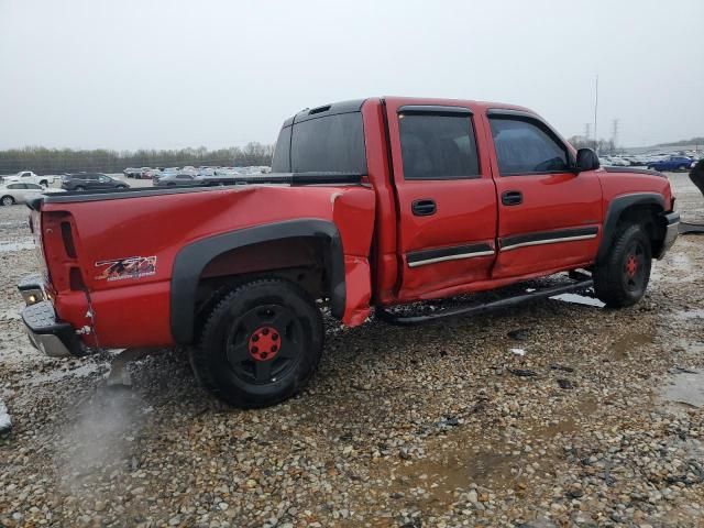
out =
[[468,113],[398,114],[405,179],[479,178],[474,128]]

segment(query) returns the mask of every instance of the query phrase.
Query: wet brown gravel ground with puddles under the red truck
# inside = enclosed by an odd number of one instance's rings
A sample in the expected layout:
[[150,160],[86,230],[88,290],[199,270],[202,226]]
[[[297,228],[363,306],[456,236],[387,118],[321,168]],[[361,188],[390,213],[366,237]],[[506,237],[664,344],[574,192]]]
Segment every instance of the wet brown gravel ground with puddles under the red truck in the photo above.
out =
[[[0,208],[0,526],[704,526],[701,237],[625,310],[550,299],[331,327],[299,397],[242,411],[179,351],[34,351],[14,289],[36,268],[25,224]],[[107,383],[111,365],[131,387]]]

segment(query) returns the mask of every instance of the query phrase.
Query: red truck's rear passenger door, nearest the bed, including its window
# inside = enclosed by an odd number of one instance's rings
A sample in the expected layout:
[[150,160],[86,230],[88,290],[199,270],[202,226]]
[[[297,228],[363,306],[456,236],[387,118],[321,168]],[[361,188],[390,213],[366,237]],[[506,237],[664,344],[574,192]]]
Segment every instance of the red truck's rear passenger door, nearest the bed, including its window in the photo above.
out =
[[[399,300],[459,293],[487,279],[496,190],[469,105],[387,99],[398,204]],[[477,133],[479,128],[479,133]]]

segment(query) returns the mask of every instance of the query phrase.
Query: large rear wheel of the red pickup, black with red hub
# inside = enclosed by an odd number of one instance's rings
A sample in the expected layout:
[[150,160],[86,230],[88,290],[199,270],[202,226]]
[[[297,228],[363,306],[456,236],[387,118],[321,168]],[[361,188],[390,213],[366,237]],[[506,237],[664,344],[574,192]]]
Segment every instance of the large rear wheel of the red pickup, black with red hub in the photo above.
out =
[[191,365],[200,383],[240,408],[294,396],[322,354],[322,316],[298,285],[278,278],[242,284],[207,316]]

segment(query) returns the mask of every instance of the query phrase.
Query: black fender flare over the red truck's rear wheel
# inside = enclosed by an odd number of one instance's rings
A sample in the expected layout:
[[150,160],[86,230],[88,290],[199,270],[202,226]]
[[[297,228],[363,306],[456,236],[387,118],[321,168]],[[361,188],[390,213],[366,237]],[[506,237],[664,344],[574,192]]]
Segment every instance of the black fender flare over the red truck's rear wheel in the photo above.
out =
[[210,261],[238,248],[300,237],[321,238],[327,242],[324,258],[330,275],[330,310],[341,319],[346,293],[344,254],[338,228],[328,220],[287,220],[216,234],[197,240],[178,251],[170,278],[170,329],[174,341],[178,344],[193,342],[198,282]]

